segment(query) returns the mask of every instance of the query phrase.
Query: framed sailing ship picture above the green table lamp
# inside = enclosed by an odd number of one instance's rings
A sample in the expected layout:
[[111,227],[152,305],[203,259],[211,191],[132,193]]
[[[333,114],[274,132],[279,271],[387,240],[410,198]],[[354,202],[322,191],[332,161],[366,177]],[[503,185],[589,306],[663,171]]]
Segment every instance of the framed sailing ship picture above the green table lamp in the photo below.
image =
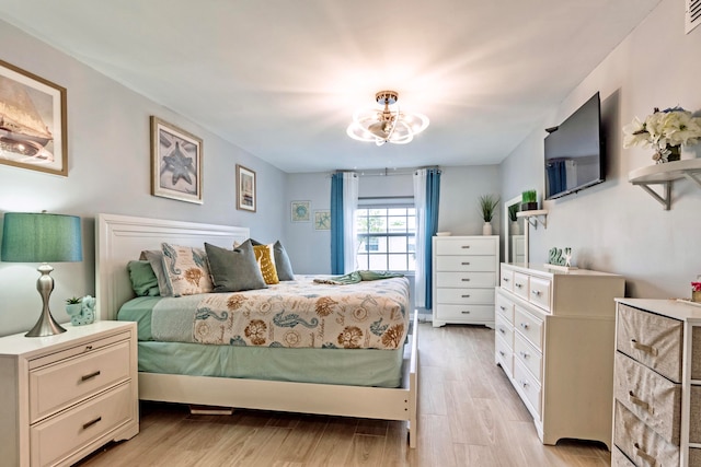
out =
[[68,176],[66,87],[0,60],[0,164]]

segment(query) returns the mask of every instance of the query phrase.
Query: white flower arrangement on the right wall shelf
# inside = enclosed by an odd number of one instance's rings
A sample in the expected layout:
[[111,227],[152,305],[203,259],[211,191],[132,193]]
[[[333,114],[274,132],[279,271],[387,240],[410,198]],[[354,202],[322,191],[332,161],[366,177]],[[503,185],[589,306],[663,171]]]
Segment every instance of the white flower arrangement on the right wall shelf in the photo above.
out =
[[[701,118],[693,117],[681,107],[659,110],[655,107],[653,114],[644,121],[637,117],[630,125],[623,127],[623,148],[643,145],[653,148],[653,160],[657,163],[667,162],[669,155],[679,155],[681,144],[698,144],[701,139]],[[677,157],[678,159],[678,157]]]

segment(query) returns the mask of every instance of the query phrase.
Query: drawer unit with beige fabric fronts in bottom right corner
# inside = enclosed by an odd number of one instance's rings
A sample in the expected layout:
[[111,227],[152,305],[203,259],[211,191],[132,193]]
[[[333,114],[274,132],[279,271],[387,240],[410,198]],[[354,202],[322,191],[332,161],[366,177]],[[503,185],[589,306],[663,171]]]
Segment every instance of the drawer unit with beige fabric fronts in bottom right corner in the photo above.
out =
[[612,464],[701,466],[701,307],[617,302]]

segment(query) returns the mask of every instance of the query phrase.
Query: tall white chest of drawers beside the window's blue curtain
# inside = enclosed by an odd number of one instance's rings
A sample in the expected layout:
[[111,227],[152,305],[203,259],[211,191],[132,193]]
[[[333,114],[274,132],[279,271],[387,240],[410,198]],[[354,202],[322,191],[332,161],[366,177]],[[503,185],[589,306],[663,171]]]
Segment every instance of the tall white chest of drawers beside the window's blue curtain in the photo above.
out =
[[499,237],[433,238],[433,325],[447,323],[494,327],[494,287]]

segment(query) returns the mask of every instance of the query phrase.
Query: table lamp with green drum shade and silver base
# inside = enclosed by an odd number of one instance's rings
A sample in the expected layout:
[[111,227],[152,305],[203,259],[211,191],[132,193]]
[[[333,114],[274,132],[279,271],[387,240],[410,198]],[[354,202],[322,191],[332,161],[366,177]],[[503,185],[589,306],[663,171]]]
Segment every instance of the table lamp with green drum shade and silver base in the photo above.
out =
[[54,270],[48,262],[82,261],[80,218],[25,212],[5,212],[2,227],[0,259],[8,262],[41,262],[42,273],[36,290],[42,295],[44,307],[36,325],[26,337],[54,336],[66,332],[51,316],[48,300],[54,290]]

